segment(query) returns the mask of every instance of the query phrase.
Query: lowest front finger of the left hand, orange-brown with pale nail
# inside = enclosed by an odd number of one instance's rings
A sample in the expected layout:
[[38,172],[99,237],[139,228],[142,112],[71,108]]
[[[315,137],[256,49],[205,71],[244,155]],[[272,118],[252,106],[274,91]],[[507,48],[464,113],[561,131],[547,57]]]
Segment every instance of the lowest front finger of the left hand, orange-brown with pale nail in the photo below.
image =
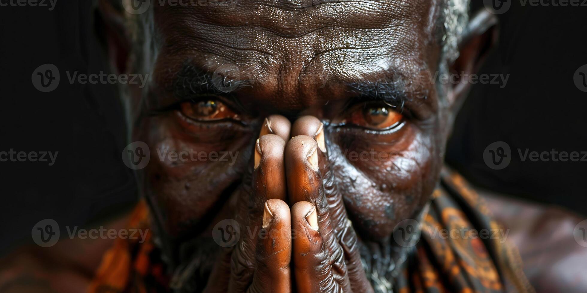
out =
[[249,292],[291,292],[291,216],[284,201],[265,202],[263,229]]

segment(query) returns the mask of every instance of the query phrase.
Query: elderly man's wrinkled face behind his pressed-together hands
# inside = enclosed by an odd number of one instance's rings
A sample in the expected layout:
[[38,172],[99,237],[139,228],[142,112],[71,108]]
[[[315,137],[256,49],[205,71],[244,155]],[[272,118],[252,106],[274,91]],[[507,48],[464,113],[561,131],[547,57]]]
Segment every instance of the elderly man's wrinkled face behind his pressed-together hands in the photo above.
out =
[[363,237],[389,236],[436,184],[447,132],[446,97],[429,79],[441,57],[440,4],[279,3],[154,10],[161,43],[133,137],[151,153],[206,154],[146,169],[172,238],[223,219],[271,114],[323,122],[335,183]]

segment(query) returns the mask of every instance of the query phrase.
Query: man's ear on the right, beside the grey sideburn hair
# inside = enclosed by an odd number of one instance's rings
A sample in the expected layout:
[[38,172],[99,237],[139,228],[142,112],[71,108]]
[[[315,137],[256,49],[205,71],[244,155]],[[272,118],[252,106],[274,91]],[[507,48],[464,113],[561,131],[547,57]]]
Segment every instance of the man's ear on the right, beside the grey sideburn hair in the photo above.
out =
[[448,102],[453,114],[457,113],[470,89],[471,84],[466,79],[477,73],[487,53],[497,44],[497,25],[497,17],[486,9],[481,9],[475,13],[465,29],[458,44],[459,56],[449,67],[450,73],[459,77],[458,83],[450,84],[451,88],[448,89]]

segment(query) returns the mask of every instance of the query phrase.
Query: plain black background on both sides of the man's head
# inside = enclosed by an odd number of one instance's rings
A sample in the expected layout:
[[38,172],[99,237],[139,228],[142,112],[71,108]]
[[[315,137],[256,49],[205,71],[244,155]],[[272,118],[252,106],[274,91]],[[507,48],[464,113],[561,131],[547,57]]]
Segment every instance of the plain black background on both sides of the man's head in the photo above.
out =
[[[512,0],[513,1],[513,0]],[[474,6],[477,9],[481,1]],[[478,186],[587,214],[587,162],[522,162],[517,149],[587,151],[587,93],[573,74],[587,64],[587,7],[522,7],[499,15],[500,43],[481,73],[510,74],[507,86],[477,84],[457,118],[447,161]],[[56,8],[0,7],[0,151],[58,151],[56,163],[0,162],[0,253],[32,243],[42,219],[83,226],[131,206],[116,87],[69,84],[65,71],[109,73],[90,1]],[[31,74],[52,63],[59,87],[41,93]],[[512,161],[493,170],[484,149],[504,141]],[[62,230],[64,231],[64,230]]]

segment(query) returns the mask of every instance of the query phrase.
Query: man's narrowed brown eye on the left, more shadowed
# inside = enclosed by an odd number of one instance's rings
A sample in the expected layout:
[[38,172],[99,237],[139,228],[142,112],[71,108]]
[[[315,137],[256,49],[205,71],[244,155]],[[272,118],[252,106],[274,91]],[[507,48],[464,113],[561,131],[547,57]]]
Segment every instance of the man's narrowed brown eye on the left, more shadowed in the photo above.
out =
[[238,117],[224,103],[218,100],[203,100],[181,103],[181,113],[193,120],[213,121]]

